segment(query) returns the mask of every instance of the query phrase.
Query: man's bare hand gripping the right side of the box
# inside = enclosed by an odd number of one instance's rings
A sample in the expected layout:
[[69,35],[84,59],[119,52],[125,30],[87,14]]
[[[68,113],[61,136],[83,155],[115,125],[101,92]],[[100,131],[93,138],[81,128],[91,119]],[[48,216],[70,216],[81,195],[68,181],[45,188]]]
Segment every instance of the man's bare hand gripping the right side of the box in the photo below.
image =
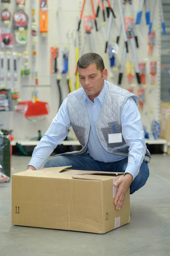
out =
[[126,173],[125,176],[119,177],[119,179],[114,183],[114,186],[119,186],[114,200],[116,210],[120,210],[120,208],[123,207],[125,194],[132,181],[133,176],[130,173]]

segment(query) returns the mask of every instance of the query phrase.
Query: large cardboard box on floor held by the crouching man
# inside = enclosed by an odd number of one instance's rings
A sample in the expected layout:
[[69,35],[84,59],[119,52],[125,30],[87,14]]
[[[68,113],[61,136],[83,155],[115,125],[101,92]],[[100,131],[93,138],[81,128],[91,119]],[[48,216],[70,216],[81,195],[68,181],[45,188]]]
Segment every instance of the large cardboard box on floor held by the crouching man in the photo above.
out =
[[122,173],[65,170],[12,175],[12,224],[103,234],[130,221],[130,192],[117,211],[113,183]]

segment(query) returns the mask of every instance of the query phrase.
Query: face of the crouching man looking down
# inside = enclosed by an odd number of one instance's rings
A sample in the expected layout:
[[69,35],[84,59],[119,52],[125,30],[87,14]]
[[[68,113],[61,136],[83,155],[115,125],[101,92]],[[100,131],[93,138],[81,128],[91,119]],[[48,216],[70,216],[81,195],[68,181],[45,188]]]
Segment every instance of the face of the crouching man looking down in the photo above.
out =
[[104,86],[104,80],[107,78],[106,69],[101,72],[96,69],[96,64],[90,64],[87,68],[78,68],[79,81],[82,88],[89,96],[98,96]]

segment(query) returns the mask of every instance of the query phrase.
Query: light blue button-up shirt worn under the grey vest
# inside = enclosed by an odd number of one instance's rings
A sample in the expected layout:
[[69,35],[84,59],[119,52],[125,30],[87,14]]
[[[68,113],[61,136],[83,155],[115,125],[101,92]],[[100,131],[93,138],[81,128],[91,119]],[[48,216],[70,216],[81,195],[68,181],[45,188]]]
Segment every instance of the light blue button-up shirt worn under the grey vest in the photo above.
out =
[[[88,109],[88,115],[91,122],[91,132],[88,142],[88,153],[95,160],[105,163],[122,160],[122,157],[108,153],[102,148],[96,134],[95,123],[99,118],[102,108],[107,85],[104,87],[98,97],[92,102],[85,93],[85,103]],[[28,165],[39,169],[47,157],[54,151],[54,148],[61,143],[68,134],[68,128],[71,126],[70,118],[66,108],[67,98],[62,102],[57,115],[54,117],[48,131],[42,137],[37,147],[34,148],[31,161]],[[128,164],[125,172],[130,173],[134,178],[138,175],[140,166],[146,154],[146,145],[144,142],[144,133],[141,116],[138,107],[132,98],[125,102],[122,115],[122,135],[126,144],[129,146]],[[97,150],[96,150],[97,149]]]

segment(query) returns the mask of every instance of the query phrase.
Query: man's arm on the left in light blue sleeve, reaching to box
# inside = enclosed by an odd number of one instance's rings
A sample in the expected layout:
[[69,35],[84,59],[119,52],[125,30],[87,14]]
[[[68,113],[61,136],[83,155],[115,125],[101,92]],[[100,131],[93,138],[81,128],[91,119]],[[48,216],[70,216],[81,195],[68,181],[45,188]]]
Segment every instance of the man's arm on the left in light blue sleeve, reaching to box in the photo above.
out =
[[50,127],[41,138],[37,147],[34,148],[28,169],[39,169],[42,163],[54,151],[54,148],[61,143],[68,134],[68,128],[71,126],[70,118],[66,108],[67,98],[62,102],[57,115],[54,117]]

